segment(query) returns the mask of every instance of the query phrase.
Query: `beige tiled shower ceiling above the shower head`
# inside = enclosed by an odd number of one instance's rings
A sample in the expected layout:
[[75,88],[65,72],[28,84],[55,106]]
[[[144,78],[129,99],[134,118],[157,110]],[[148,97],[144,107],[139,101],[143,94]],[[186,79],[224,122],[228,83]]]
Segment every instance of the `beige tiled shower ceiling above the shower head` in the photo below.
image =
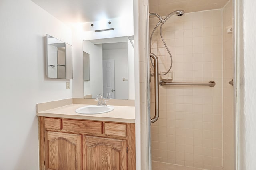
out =
[[204,10],[220,9],[229,0],[149,0],[150,13],[166,16],[175,10],[197,12]]

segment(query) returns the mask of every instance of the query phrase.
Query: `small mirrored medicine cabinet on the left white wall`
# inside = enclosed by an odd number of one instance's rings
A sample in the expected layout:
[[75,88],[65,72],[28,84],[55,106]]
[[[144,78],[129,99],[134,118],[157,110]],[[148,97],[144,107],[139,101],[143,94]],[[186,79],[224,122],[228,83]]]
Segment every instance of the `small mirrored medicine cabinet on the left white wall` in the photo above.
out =
[[46,36],[46,75],[48,78],[72,79],[72,45]]

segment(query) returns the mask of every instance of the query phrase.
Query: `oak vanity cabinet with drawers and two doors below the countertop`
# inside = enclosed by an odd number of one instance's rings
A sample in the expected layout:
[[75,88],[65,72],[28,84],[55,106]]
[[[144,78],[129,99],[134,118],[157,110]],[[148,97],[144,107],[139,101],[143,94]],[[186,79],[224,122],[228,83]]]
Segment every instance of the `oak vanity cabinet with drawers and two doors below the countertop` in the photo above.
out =
[[40,170],[135,170],[135,124],[39,117]]

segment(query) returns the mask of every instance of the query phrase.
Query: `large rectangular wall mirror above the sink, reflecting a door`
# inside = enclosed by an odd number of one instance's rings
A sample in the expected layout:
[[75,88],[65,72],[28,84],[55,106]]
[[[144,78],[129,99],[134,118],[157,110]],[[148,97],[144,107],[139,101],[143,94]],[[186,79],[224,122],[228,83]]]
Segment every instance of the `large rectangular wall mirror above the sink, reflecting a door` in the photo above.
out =
[[86,40],[83,52],[90,58],[83,65],[86,70],[89,63],[90,75],[84,80],[84,98],[134,99],[134,49],[128,37]]

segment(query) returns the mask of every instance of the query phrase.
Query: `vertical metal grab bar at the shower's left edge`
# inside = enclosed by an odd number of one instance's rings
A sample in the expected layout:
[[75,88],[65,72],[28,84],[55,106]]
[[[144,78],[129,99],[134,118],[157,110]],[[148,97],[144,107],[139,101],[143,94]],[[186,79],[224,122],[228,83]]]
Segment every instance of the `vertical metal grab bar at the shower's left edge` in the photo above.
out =
[[158,120],[159,117],[159,75],[158,75],[158,58],[153,53],[150,53],[150,57],[154,60],[154,78],[155,78],[155,116],[151,119],[151,123]]

